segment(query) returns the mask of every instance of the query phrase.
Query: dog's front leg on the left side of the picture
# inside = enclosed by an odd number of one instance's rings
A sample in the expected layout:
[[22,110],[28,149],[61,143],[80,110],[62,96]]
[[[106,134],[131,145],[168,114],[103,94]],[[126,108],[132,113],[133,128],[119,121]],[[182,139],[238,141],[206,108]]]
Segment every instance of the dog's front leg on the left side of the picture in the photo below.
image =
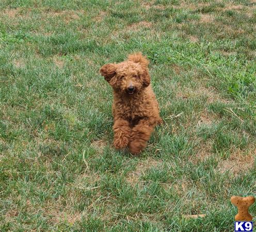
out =
[[116,149],[124,148],[128,145],[131,136],[129,122],[124,119],[116,119],[113,126],[114,146]]

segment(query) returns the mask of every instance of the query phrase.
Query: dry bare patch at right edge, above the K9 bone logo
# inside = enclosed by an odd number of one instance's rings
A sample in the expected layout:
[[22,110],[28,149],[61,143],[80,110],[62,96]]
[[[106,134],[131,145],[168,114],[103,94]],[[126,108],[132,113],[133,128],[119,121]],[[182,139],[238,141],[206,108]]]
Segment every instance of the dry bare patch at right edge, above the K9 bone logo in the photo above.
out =
[[219,162],[217,171],[220,173],[230,171],[234,175],[245,173],[254,166],[255,155],[256,149],[248,153],[236,150],[228,159]]

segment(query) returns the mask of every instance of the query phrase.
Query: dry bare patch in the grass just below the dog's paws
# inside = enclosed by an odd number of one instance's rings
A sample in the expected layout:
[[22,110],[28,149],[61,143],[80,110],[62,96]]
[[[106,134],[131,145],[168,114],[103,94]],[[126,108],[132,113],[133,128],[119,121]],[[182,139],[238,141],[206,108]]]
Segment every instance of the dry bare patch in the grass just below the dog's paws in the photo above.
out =
[[127,174],[126,181],[131,185],[136,185],[139,181],[141,175],[145,175],[145,171],[147,171],[151,167],[156,167],[159,163],[158,160],[148,158],[147,160],[143,160],[137,164],[137,167],[134,171]]

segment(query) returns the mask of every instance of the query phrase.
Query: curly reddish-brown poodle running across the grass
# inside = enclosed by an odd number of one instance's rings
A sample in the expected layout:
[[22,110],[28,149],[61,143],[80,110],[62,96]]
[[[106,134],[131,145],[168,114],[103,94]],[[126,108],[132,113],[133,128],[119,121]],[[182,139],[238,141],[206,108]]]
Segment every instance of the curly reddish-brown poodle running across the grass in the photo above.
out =
[[101,67],[100,73],[113,88],[114,146],[128,145],[132,154],[145,148],[154,127],[162,122],[150,85],[149,61],[141,53],[128,60]]

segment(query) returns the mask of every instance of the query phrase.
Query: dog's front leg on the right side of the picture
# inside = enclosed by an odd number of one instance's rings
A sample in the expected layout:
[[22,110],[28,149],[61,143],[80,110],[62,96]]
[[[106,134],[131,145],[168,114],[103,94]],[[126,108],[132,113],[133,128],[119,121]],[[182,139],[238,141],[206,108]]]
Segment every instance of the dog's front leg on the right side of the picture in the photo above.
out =
[[156,122],[154,120],[142,119],[133,127],[130,138],[129,152],[136,155],[139,154],[147,145],[151,133],[154,130]]

